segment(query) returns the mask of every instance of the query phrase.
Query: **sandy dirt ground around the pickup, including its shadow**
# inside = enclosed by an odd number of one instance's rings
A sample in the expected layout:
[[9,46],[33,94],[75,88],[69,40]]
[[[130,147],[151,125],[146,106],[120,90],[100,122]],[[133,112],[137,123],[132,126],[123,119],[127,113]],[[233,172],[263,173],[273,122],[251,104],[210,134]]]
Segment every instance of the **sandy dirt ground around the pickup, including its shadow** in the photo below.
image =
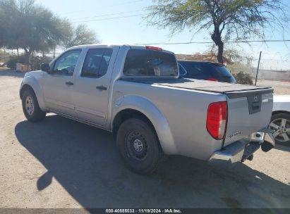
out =
[[136,175],[109,132],[53,114],[25,120],[22,77],[0,72],[0,208],[290,208],[290,147],[231,168],[173,156]]

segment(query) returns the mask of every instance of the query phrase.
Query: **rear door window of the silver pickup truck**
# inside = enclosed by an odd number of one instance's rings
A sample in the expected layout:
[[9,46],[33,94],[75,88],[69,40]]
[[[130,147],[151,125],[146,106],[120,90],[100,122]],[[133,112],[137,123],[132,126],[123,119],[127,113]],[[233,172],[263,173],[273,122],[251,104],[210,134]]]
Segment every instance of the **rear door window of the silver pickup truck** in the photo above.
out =
[[85,57],[82,77],[102,77],[107,73],[112,49],[90,49]]

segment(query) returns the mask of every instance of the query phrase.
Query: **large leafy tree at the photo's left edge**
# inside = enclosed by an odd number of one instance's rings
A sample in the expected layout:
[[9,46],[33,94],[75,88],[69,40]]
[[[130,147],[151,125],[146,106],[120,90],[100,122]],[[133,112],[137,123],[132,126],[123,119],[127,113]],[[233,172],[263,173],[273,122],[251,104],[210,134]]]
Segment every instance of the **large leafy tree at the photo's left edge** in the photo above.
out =
[[[61,20],[34,0],[0,0],[0,38],[8,49],[48,51],[62,38]],[[2,30],[3,29],[3,30]]]

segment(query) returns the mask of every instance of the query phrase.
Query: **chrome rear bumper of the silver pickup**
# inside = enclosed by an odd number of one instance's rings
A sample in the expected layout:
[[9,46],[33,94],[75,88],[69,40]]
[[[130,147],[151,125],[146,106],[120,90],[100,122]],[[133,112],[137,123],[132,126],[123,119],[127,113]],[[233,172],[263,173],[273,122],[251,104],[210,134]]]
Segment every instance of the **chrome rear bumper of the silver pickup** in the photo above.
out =
[[243,139],[225,146],[222,151],[213,153],[208,161],[210,163],[220,162],[221,160],[229,163],[243,162],[260,149],[260,147],[262,147],[262,151],[270,151],[275,145],[274,138],[268,130],[263,131],[251,134],[250,140]]

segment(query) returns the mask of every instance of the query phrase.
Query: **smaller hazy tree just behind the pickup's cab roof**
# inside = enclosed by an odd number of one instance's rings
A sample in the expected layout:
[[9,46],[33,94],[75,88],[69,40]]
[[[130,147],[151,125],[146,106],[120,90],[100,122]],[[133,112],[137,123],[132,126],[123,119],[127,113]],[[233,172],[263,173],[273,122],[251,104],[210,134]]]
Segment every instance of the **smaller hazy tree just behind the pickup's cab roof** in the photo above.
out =
[[73,27],[68,20],[64,20],[62,25],[63,37],[61,46],[64,46],[66,49],[71,46],[99,43],[96,33],[89,30],[86,25]]

